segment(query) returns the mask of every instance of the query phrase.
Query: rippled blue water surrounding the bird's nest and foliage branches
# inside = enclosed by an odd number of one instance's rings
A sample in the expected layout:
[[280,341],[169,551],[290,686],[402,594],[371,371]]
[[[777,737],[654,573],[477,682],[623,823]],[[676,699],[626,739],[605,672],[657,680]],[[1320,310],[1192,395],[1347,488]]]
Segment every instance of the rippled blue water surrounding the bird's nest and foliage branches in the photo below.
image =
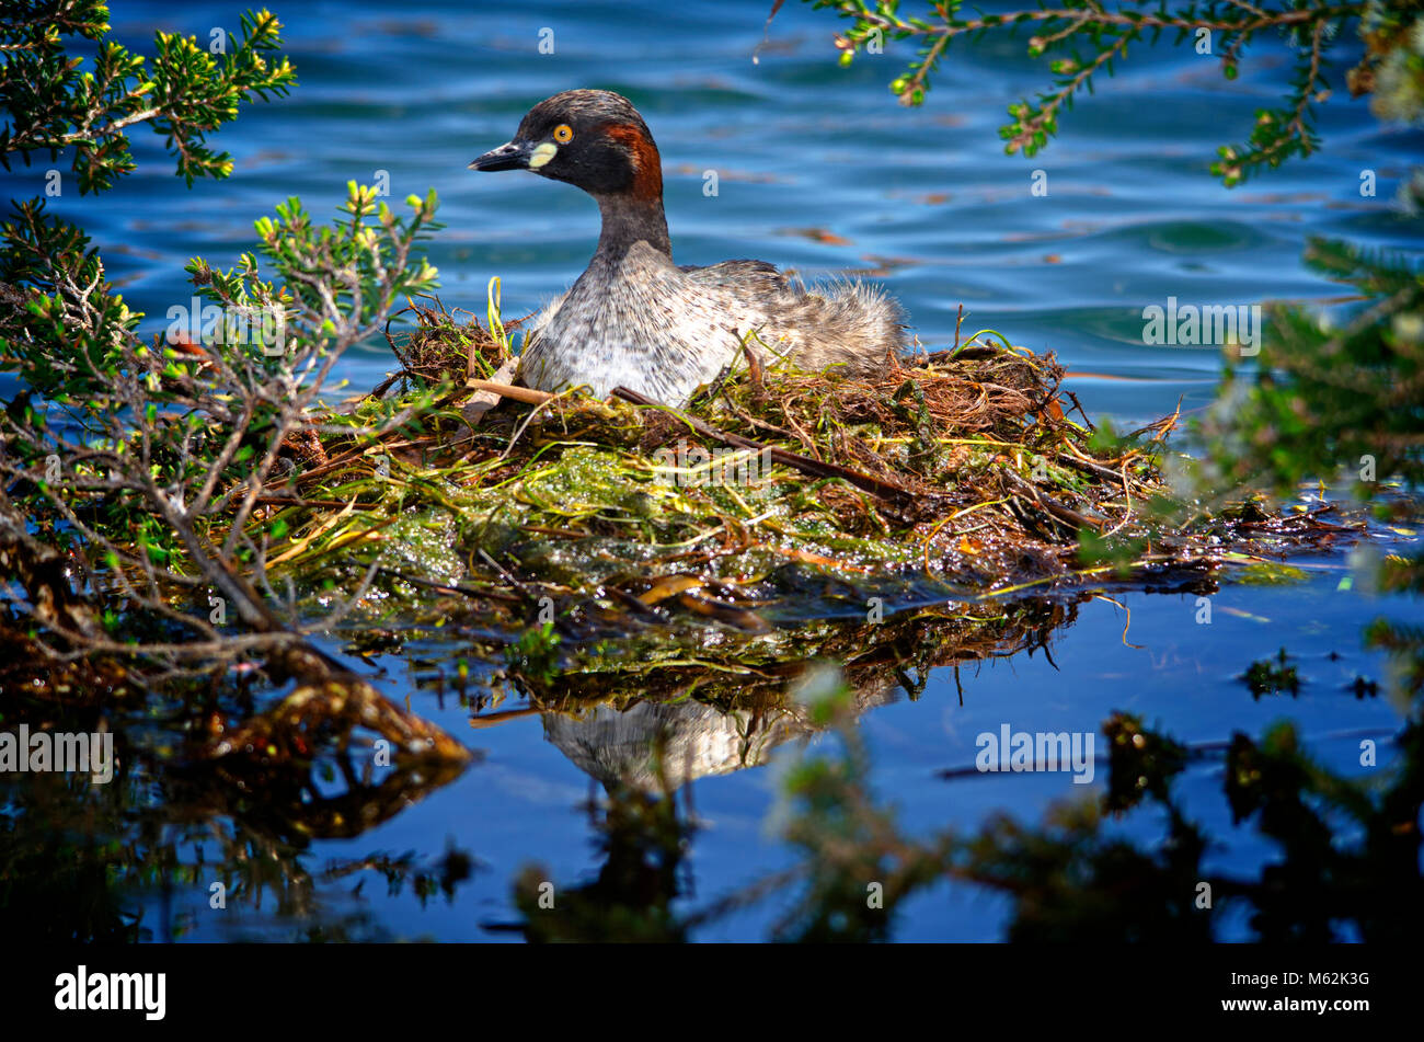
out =
[[[1002,154],[997,127],[1004,107],[1041,88],[1048,74],[1024,57],[1021,40],[956,44],[927,104],[904,110],[886,84],[910,50],[891,44],[840,68],[830,46],[839,26],[827,13],[787,4],[753,63],[769,6],[422,0],[390,9],[279,0],[300,85],[286,100],[245,108],[218,135],[235,158],[231,179],[185,191],[158,140],[140,132],[137,174],[100,198],[67,189],[53,205],[88,229],[108,276],[132,307],[154,316],[157,332],[167,309],[191,296],[181,270],[188,258],[231,265],[255,245],[252,221],[286,196],[330,215],[346,181],[372,182],[384,171],[393,201],[430,188],[441,199],[449,226],[429,252],[444,302],[483,313],[486,285],[498,275],[506,312],[517,315],[582,270],[597,208],[567,185],[474,174],[466,164],[508,140],[540,98],[611,88],[632,98],[661,148],[681,263],[756,256],[806,278],[867,273],[904,303],[931,350],[953,343],[963,305],[965,333],[998,329],[1014,343],[1055,352],[1085,407],[1125,426],[1169,413],[1183,397],[1186,410],[1199,409],[1220,370],[1215,350],[1145,346],[1145,306],[1171,296],[1326,302],[1341,288],[1302,265],[1307,236],[1420,245],[1391,199],[1424,135],[1381,127],[1343,85],[1320,107],[1319,155],[1235,191],[1210,178],[1216,147],[1245,140],[1252,111],[1280,95],[1287,67],[1277,41],[1255,48],[1233,84],[1220,78],[1215,58],[1188,48],[1135,48],[1115,80],[1098,83],[1096,95],[1061,121],[1045,152],[1022,159]],[[147,51],[154,28],[206,40],[215,26],[236,28],[236,13],[229,3],[122,3],[114,23],[124,43]],[[553,54],[538,53],[543,28],[554,33]],[[46,168],[7,175],[10,195],[43,194]],[[718,181],[712,196],[703,192],[709,171]],[[1035,171],[1047,177],[1044,196],[1031,192]],[[1377,181],[1373,198],[1361,196],[1366,171]],[[349,356],[342,374],[365,389],[390,367],[384,349],[372,344]],[[970,766],[983,730],[1008,723],[1094,732],[1114,709],[1189,742],[1259,733],[1289,716],[1326,763],[1349,769],[1358,739],[1340,735],[1386,735],[1400,722],[1386,699],[1356,700],[1343,690],[1357,673],[1386,670],[1378,655],[1361,651],[1360,628],[1408,605],[1341,589],[1343,554],[1310,564],[1300,584],[1226,586],[1213,596],[1210,625],[1195,622],[1192,596],[1116,595],[1122,608],[1091,601],[1055,635],[1057,668],[1022,653],[967,665],[963,706],[953,676],[937,670],[917,702],[901,698],[862,717],[877,791],[917,834],[973,827],[1002,810],[1037,820],[1049,800],[1082,787],[1067,774],[944,782],[934,772]],[[1124,609],[1132,619],[1126,639]],[[1236,676],[1283,645],[1302,655],[1300,698],[1253,702]],[[412,693],[404,663],[382,665],[387,693],[403,700]],[[470,730],[467,710],[439,707],[427,693],[412,698],[484,759],[386,824],[355,840],[316,843],[303,858],[319,871],[332,858],[376,850],[437,856],[449,841],[480,864],[449,904],[422,905],[409,890],[389,897],[379,880],[359,898],[346,895],[350,880],[323,884],[320,904],[335,915],[366,915],[377,935],[507,938],[486,927],[517,918],[510,881],[524,864],[547,865],[561,885],[597,871],[580,807],[588,777],[545,740],[538,716]],[[1381,750],[1388,762],[1388,746]],[[769,820],[780,773],[797,752],[789,743],[768,766],[693,783],[701,830],[688,856],[695,895],[686,907],[789,863]],[[1098,763],[1105,770],[1105,759]],[[1230,837],[1213,857],[1246,867],[1267,850],[1230,828],[1219,772],[1210,760],[1189,770],[1188,804],[1209,830]],[[1161,823],[1124,827],[1151,843]],[[201,938],[288,937],[300,925],[275,917],[271,902],[214,915],[205,893],[175,901],[192,911],[191,935]],[[698,937],[762,937],[776,911],[773,901]],[[997,898],[941,887],[906,910],[897,937],[994,938],[1007,914]]]

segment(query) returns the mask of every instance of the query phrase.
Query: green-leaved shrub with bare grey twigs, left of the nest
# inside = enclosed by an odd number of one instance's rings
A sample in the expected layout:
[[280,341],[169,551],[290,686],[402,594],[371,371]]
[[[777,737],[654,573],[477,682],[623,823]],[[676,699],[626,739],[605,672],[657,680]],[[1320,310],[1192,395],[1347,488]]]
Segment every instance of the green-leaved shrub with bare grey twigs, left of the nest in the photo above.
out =
[[[0,369],[27,389],[0,414],[0,473],[24,480],[16,504],[80,532],[75,549],[95,567],[112,557],[150,575],[191,574],[219,531],[224,557],[245,548],[239,557],[259,561],[244,525],[282,447],[316,421],[332,367],[402,296],[434,285],[434,268],[410,251],[439,228],[437,202],[407,202],[410,215],[397,216],[352,185],[342,219],[320,226],[288,201],[276,221],[256,222],[271,278],[252,253],[228,270],[195,259],[188,270],[212,316],[205,307],[194,339],[184,306],[182,330],[152,344],[101,278],[81,285],[85,272],[101,275],[87,239],[21,208],[0,270],[23,276],[31,255],[50,266],[7,288],[23,306],[0,309]],[[54,242],[66,248],[47,251]],[[31,404],[34,394],[48,406]]]

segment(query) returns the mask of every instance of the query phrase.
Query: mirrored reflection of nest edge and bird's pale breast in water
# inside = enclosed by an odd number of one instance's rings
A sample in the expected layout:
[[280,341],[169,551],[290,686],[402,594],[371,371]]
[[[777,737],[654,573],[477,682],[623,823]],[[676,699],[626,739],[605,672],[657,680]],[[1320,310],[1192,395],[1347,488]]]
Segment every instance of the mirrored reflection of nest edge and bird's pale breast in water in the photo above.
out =
[[[544,710],[545,737],[580,770],[608,787],[672,790],[755,767],[783,742],[816,733],[806,707],[786,695],[806,658],[844,659],[854,709],[863,713],[896,700],[901,689],[917,698],[930,669],[954,666],[957,676],[961,663],[1047,649],[1049,633],[1071,625],[1075,614],[1074,605],[1044,602],[1014,605],[987,619],[907,612],[879,626],[843,625],[819,642],[807,641],[800,662],[775,672],[729,675],[688,663],[648,670],[644,663],[528,686]],[[555,686],[564,693],[555,695]]]

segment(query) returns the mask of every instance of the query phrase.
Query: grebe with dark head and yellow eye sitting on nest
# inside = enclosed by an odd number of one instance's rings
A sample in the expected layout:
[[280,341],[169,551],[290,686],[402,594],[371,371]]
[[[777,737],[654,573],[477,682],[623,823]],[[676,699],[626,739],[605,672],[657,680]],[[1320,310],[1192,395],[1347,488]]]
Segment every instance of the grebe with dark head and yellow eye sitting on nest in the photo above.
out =
[[658,147],[621,94],[545,98],[513,141],[470,169],[567,181],[602,214],[588,269],[525,336],[520,380],[528,387],[588,386],[602,397],[624,386],[682,406],[738,359],[743,339],[763,363],[765,347],[816,372],[874,372],[904,346],[903,312],[879,289],[844,282],[806,292],[765,260],[672,263]]

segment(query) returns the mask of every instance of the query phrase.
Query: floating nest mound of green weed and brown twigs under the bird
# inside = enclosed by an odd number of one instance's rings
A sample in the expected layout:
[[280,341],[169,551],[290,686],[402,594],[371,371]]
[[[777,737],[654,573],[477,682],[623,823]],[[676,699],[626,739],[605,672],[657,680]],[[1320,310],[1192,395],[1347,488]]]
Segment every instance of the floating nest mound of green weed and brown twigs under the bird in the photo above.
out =
[[436,407],[399,436],[295,451],[259,520],[282,522],[273,565],[328,588],[375,575],[363,625],[756,632],[1206,574],[1343,531],[1250,501],[1188,510],[1163,480],[1176,416],[1095,428],[1051,354],[997,336],[873,377],[743,364],[675,410],[506,390],[490,377],[507,377],[518,323],[409,315],[389,337],[400,369],[353,411],[431,391]]

